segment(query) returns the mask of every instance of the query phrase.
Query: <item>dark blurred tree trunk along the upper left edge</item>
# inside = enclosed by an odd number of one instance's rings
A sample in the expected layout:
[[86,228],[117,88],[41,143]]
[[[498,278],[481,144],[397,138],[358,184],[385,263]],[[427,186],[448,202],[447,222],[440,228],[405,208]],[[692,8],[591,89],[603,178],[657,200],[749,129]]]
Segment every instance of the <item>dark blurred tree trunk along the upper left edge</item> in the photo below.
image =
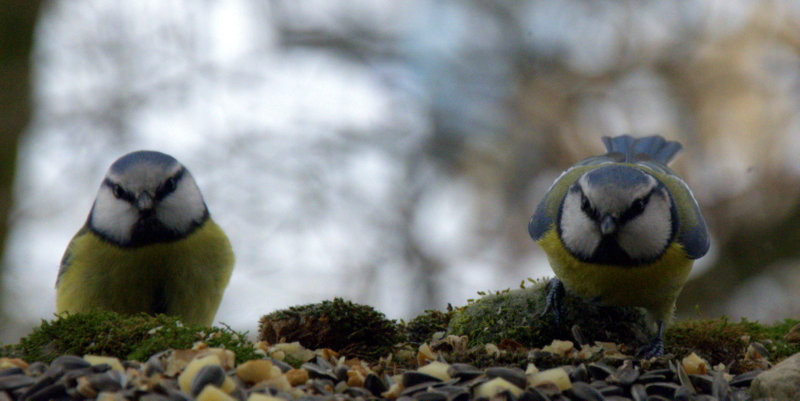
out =
[[[31,49],[39,4],[0,0],[0,260],[8,233],[17,144],[31,114]],[[2,278],[0,270],[0,286]]]

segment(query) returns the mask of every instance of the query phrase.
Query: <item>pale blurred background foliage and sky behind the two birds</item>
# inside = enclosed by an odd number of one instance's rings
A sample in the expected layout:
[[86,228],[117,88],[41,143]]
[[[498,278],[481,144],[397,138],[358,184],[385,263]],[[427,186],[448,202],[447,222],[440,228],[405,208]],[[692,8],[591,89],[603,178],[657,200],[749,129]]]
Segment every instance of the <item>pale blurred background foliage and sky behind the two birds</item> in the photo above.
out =
[[678,315],[800,315],[800,2],[50,1],[34,41],[5,341],[50,316],[61,252],[137,148],[183,161],[230,235],[237,329],[552,274],[530,215],[623,133],[683,143],[712,231]]

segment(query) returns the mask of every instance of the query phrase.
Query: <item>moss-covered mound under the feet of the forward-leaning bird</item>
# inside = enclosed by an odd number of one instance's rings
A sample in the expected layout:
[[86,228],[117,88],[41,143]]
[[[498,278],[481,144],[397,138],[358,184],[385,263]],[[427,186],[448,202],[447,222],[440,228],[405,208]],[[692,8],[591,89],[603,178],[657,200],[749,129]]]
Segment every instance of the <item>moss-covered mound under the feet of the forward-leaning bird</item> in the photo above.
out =
[[[562,321],[556,325],[544,310],[548,286],[536,281],[528,288],[486,295],[456,309],[449,334],[467,335],[470,345],[516,341],[526,347],[542,347],[553,339],[578,343],[610,341],[643,345],[654,333],[646,314],[638,308],[619,308],[587,302],[566,292]],[[577,326],[581,339],[573,338]]]

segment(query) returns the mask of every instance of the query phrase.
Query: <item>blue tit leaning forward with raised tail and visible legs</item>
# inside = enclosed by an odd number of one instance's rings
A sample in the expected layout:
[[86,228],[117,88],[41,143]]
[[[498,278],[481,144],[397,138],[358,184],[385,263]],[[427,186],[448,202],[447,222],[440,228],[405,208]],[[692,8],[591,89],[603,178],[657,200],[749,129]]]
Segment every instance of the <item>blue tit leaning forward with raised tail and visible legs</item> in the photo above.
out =
[[608,153],[556,178],[528,225],[556,275],[546,311],[556,321],[564,287],[586,299],[637,306],[657,323],[639,354],[664,352],[664,325],[709,236],[692,191],[667,164],[681,149],[660,136],[604,137]]

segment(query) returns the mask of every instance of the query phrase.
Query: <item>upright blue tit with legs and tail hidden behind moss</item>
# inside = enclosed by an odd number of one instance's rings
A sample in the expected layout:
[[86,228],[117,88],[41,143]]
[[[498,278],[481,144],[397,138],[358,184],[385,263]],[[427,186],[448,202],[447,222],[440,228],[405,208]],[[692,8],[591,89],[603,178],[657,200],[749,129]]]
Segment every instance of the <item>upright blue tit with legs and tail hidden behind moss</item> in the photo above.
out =
[[129,153],[109,168],[64,253],[56,309],[164,313],[210,325],[233,262],[189,170],[164,153]]

